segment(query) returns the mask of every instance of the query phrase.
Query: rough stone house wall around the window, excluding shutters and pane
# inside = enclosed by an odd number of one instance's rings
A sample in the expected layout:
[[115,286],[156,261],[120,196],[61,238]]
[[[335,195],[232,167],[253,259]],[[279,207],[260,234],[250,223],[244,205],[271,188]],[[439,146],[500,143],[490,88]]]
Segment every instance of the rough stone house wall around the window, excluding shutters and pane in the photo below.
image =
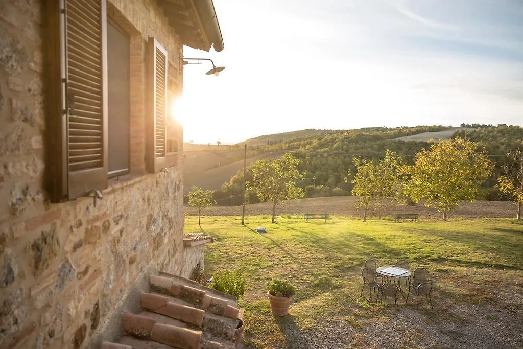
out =
[[[85,348],[110,327],[137,280],[158,270],[179,275],[184,263],[181,156],[168,173],[111,186],[101,200],[47,199],[43,1],[0,1],[2,349]],[[143,41],[132,41],[136,47],[145,50],[146,37],[156,36],[170,58],[179,57],[181,46],[155,1],[108,0],[110,10],[140,33]],[[134,61],[143,73],[145,65]],[[169,80],[179,82],[177,62],[170,61]],[[133,96],[137,119],[145,118],[144,94]],[[141,152],[134,162],[143,162],[145,142],[132,142]]]

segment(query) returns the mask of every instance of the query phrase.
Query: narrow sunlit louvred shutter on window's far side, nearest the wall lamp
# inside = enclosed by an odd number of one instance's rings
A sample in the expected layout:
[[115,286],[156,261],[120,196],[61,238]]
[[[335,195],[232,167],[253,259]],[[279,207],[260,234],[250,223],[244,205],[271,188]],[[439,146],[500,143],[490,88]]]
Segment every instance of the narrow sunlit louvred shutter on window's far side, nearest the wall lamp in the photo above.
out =
[[149,38],[149,62],[152,114],[150,166],[152,172],[158,172],[166,166],[167,155],[167,51],[152,37]]

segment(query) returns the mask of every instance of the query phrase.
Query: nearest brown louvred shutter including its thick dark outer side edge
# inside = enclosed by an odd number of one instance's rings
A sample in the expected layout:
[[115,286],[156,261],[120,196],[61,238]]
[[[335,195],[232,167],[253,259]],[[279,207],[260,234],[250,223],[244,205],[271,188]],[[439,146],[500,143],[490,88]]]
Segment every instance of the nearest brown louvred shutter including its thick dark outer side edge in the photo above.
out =
[[53,202],[107,187],[106,0],[44,1],[46,182]]

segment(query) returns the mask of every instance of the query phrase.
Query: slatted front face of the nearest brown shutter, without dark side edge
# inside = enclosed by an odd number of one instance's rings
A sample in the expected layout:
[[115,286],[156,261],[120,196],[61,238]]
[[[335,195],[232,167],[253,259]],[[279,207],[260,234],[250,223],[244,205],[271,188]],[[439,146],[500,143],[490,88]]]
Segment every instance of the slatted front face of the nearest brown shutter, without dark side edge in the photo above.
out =
[[107,9],[105,0],[67,0],[68,195],[107,187]]

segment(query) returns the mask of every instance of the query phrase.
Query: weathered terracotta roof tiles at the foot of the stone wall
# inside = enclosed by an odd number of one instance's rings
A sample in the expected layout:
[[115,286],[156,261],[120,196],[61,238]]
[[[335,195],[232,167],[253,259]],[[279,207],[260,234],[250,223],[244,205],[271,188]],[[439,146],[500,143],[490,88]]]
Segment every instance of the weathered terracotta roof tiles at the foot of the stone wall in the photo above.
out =
[[236,298],[179,276],[150,278],[139,314],[124,313],[126,331],[101,349],[230,349],[241,345]]

